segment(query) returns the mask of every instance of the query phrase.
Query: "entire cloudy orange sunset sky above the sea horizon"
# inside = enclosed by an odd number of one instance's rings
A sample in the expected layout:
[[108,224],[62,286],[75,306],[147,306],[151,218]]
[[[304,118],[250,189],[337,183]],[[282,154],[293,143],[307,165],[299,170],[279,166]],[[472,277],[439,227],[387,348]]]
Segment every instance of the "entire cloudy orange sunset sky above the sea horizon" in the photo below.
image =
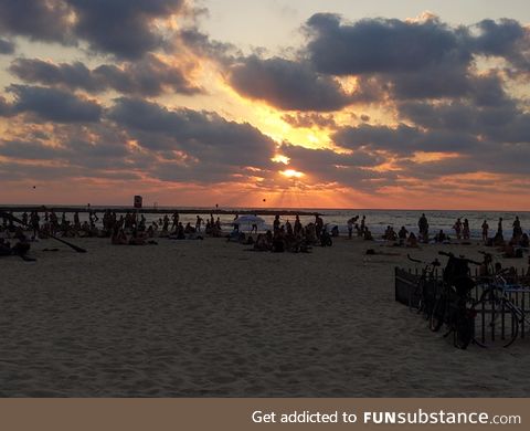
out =
[[0,204],[530,210],[524,1],[0,0]]

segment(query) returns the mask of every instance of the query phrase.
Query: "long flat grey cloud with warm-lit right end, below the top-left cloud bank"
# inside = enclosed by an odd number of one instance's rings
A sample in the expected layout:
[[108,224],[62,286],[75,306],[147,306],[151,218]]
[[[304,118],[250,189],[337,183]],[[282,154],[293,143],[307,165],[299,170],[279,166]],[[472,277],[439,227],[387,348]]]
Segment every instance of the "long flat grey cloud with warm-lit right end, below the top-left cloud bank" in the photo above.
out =
[[114,90],[124,94],[158,96],[165,92],[201,92],[187,78],[184,71],[152,54],[123,66],[104,64],[94,70],[81,62],[54,64],[39,59],[18,59],[11,64],[10,71],[25,82],[61,85],[88,93]]

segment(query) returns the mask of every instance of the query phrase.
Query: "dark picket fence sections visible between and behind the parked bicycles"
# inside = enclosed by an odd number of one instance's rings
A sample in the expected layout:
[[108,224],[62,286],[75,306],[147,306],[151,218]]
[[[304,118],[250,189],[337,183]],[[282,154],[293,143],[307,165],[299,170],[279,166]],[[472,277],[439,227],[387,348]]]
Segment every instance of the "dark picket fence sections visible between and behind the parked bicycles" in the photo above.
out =
[[[417,270],[405,270],[402,267],[395,267],[395,301],[409,306],[409,302],[411,301],[411,290],[414,290],[421,278],[421,274],[417,272]],[[511,282],[515,284],[520,283],[521,281],[524,281],[524,275],[522,272],[520,273],[515,273]],[[478,273],[475,273],[473,278],[475,280],[475,287],[470,292],[470,296],[473,301],[478,301],[485,288],[487,287],[487,284],[481,282],[480,277],[478,276]],[[431,296],[432,298],[435,298],[441,290],[443,288],[443,272],[435,271],[433,277],[428,278],[427,282],[424,285],[424,295]],[[506,292],[508,298],[517,306],[519,309],[522,312],[522,315],[524,316],[526,314],[529,314],[530,317],[530,288],[522,288],[522,290],[508,290]],[[416,304],[412,304],[416,305]],[[500,328],[495,328],[495,327],[488,327],[488,325],[485,325],[484,323],[487,320],[487,309],[478,307],[476,309],[478,313],[476,316],[476,328],[479,330],[479,334],[476,334],[476,337],[479,337],[481,339],[485,339],[486,337],[495,337],[496,334],[495,332],[497,330],[502,337],[505,336],[506,333],[511,330],[510,325],[513,323],[506,323],[505,324],[505,317],[502,316],[501,318],[501,327]],[[502,309],[501,313],[505,313],[505,309]],[[508,314],[508,311],[506,311]],[[528,318],[528,317],[527,317]],[[480,324],[481,323],[481,324]],[[524,338],[527,332],[530,329],[529,324],[526,318],[520,322],[519,326],[519,334],[518,336],[521,338]]]

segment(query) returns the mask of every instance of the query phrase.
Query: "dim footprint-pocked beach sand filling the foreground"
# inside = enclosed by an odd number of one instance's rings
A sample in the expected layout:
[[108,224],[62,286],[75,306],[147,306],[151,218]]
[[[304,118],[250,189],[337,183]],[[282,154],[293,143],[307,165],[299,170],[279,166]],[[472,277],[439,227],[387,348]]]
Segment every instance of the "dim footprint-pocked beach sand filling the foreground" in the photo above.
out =
[[[215,239],[74,241],[89,252],[43,252],[57,243],[41,241],[36,263],[0,260],[2,397],[530,393],[530,339],[457,350],[394,302],[407,250],[346,239],[311,254]],[[476,245],[460,248],[478,259]]]

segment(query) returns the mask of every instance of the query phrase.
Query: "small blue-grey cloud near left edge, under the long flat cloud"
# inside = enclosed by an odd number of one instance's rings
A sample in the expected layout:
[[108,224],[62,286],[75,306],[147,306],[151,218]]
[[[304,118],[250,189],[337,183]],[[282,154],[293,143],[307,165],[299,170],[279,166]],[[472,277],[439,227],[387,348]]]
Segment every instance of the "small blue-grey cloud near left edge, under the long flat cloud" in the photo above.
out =
[[11,85],[15,99],[11,107],[17,113],[32,113],[43,120],[57,123],[98,122],[102,106],[72,93],[38,86]]

